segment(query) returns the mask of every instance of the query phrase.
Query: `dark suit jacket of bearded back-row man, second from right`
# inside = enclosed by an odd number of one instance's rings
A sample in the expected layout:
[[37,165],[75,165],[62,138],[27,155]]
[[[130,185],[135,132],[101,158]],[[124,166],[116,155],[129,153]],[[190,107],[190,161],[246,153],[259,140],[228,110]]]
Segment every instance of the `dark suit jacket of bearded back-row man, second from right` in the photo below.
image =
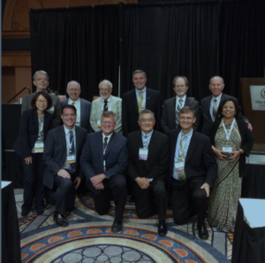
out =
[[[193,129],[196,130],[200,124],[200,106],[199,102],[190,98],[186,97],[185,106],[190,106],[194,110],[196,110],[196,121],[193,124]],[[176,129],[176,96],[171,97],[164,101],[163,103],[163,112],[162,112],[162,119],[161,119],[161,127],[165,134],[168,134],[170,130]],[[178,128],[180,126],[178,125]]]

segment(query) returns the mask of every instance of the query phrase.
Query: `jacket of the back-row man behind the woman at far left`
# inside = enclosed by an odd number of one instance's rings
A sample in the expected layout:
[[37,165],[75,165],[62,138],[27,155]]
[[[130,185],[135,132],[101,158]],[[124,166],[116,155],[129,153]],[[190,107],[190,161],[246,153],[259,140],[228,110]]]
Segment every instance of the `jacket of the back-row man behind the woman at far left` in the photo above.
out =
[[[23,97],[22,100],[22,107],[21,107],[21,114],[29,109],[32,109],[31,106],[31,101],[34,97],[35,93],[28,94]],[[52,106],[54,107],[54,112],[53,112],[53,127],[57,127],[61,124],[61,103],[59,97],[49,94],[52,100]]]

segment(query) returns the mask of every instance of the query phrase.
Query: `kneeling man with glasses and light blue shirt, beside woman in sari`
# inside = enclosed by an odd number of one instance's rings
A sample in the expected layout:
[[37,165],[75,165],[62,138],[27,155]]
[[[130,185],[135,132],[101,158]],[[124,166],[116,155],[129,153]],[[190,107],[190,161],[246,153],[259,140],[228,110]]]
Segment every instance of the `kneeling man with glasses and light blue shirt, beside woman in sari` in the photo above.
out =
[[216,158],[210,139],[193,130],[195,110],[185,106],[178,120],[181,130],[169,133],[173,219],[177,224],[185,224],[196,213],[199,237],[208,239],[204,219],[210,188],[216,180]]

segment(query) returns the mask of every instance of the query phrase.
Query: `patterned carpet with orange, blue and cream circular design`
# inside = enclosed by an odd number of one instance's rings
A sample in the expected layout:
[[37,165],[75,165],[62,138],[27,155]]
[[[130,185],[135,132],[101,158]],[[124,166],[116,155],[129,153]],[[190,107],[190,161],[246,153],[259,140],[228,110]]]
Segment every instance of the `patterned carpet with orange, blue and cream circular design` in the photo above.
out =
[[124,228],[111,233],[114,208],[100,216],[87,196],[77,197],[76,209],[67,217],[69,227],[58,228],[53,221],[54,205],[37,216],[33,211],[21,217],[23,190],[15,190],[19,216],[22,262],[119,263],[119,262],[231,262],[232,235],[208,225],[209,239],[198,238],[196,217],[186,225],[176,225],[167,213],[168,235],[156,235],[157,218],[140,220],[133,204],[125,207]]

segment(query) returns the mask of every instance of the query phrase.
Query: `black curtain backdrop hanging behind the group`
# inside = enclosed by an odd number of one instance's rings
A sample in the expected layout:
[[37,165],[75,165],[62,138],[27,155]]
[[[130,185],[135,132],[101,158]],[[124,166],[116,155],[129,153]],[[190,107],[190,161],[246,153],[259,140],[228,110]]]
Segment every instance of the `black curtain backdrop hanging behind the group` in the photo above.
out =
[[240,77],[263,77],[264,13],[265,1],[31,10],[33,73],[46,70],[60,94],[67,81],[79,81],[88,100],[102,79],[114,83],[117,96],[119,63],[121,97],[136,69],[163,99],[174,95],[176,75],[186,75],[188,96],[201,100],[210,94],[209,78],[220,74],[224,92],[239,97]]

